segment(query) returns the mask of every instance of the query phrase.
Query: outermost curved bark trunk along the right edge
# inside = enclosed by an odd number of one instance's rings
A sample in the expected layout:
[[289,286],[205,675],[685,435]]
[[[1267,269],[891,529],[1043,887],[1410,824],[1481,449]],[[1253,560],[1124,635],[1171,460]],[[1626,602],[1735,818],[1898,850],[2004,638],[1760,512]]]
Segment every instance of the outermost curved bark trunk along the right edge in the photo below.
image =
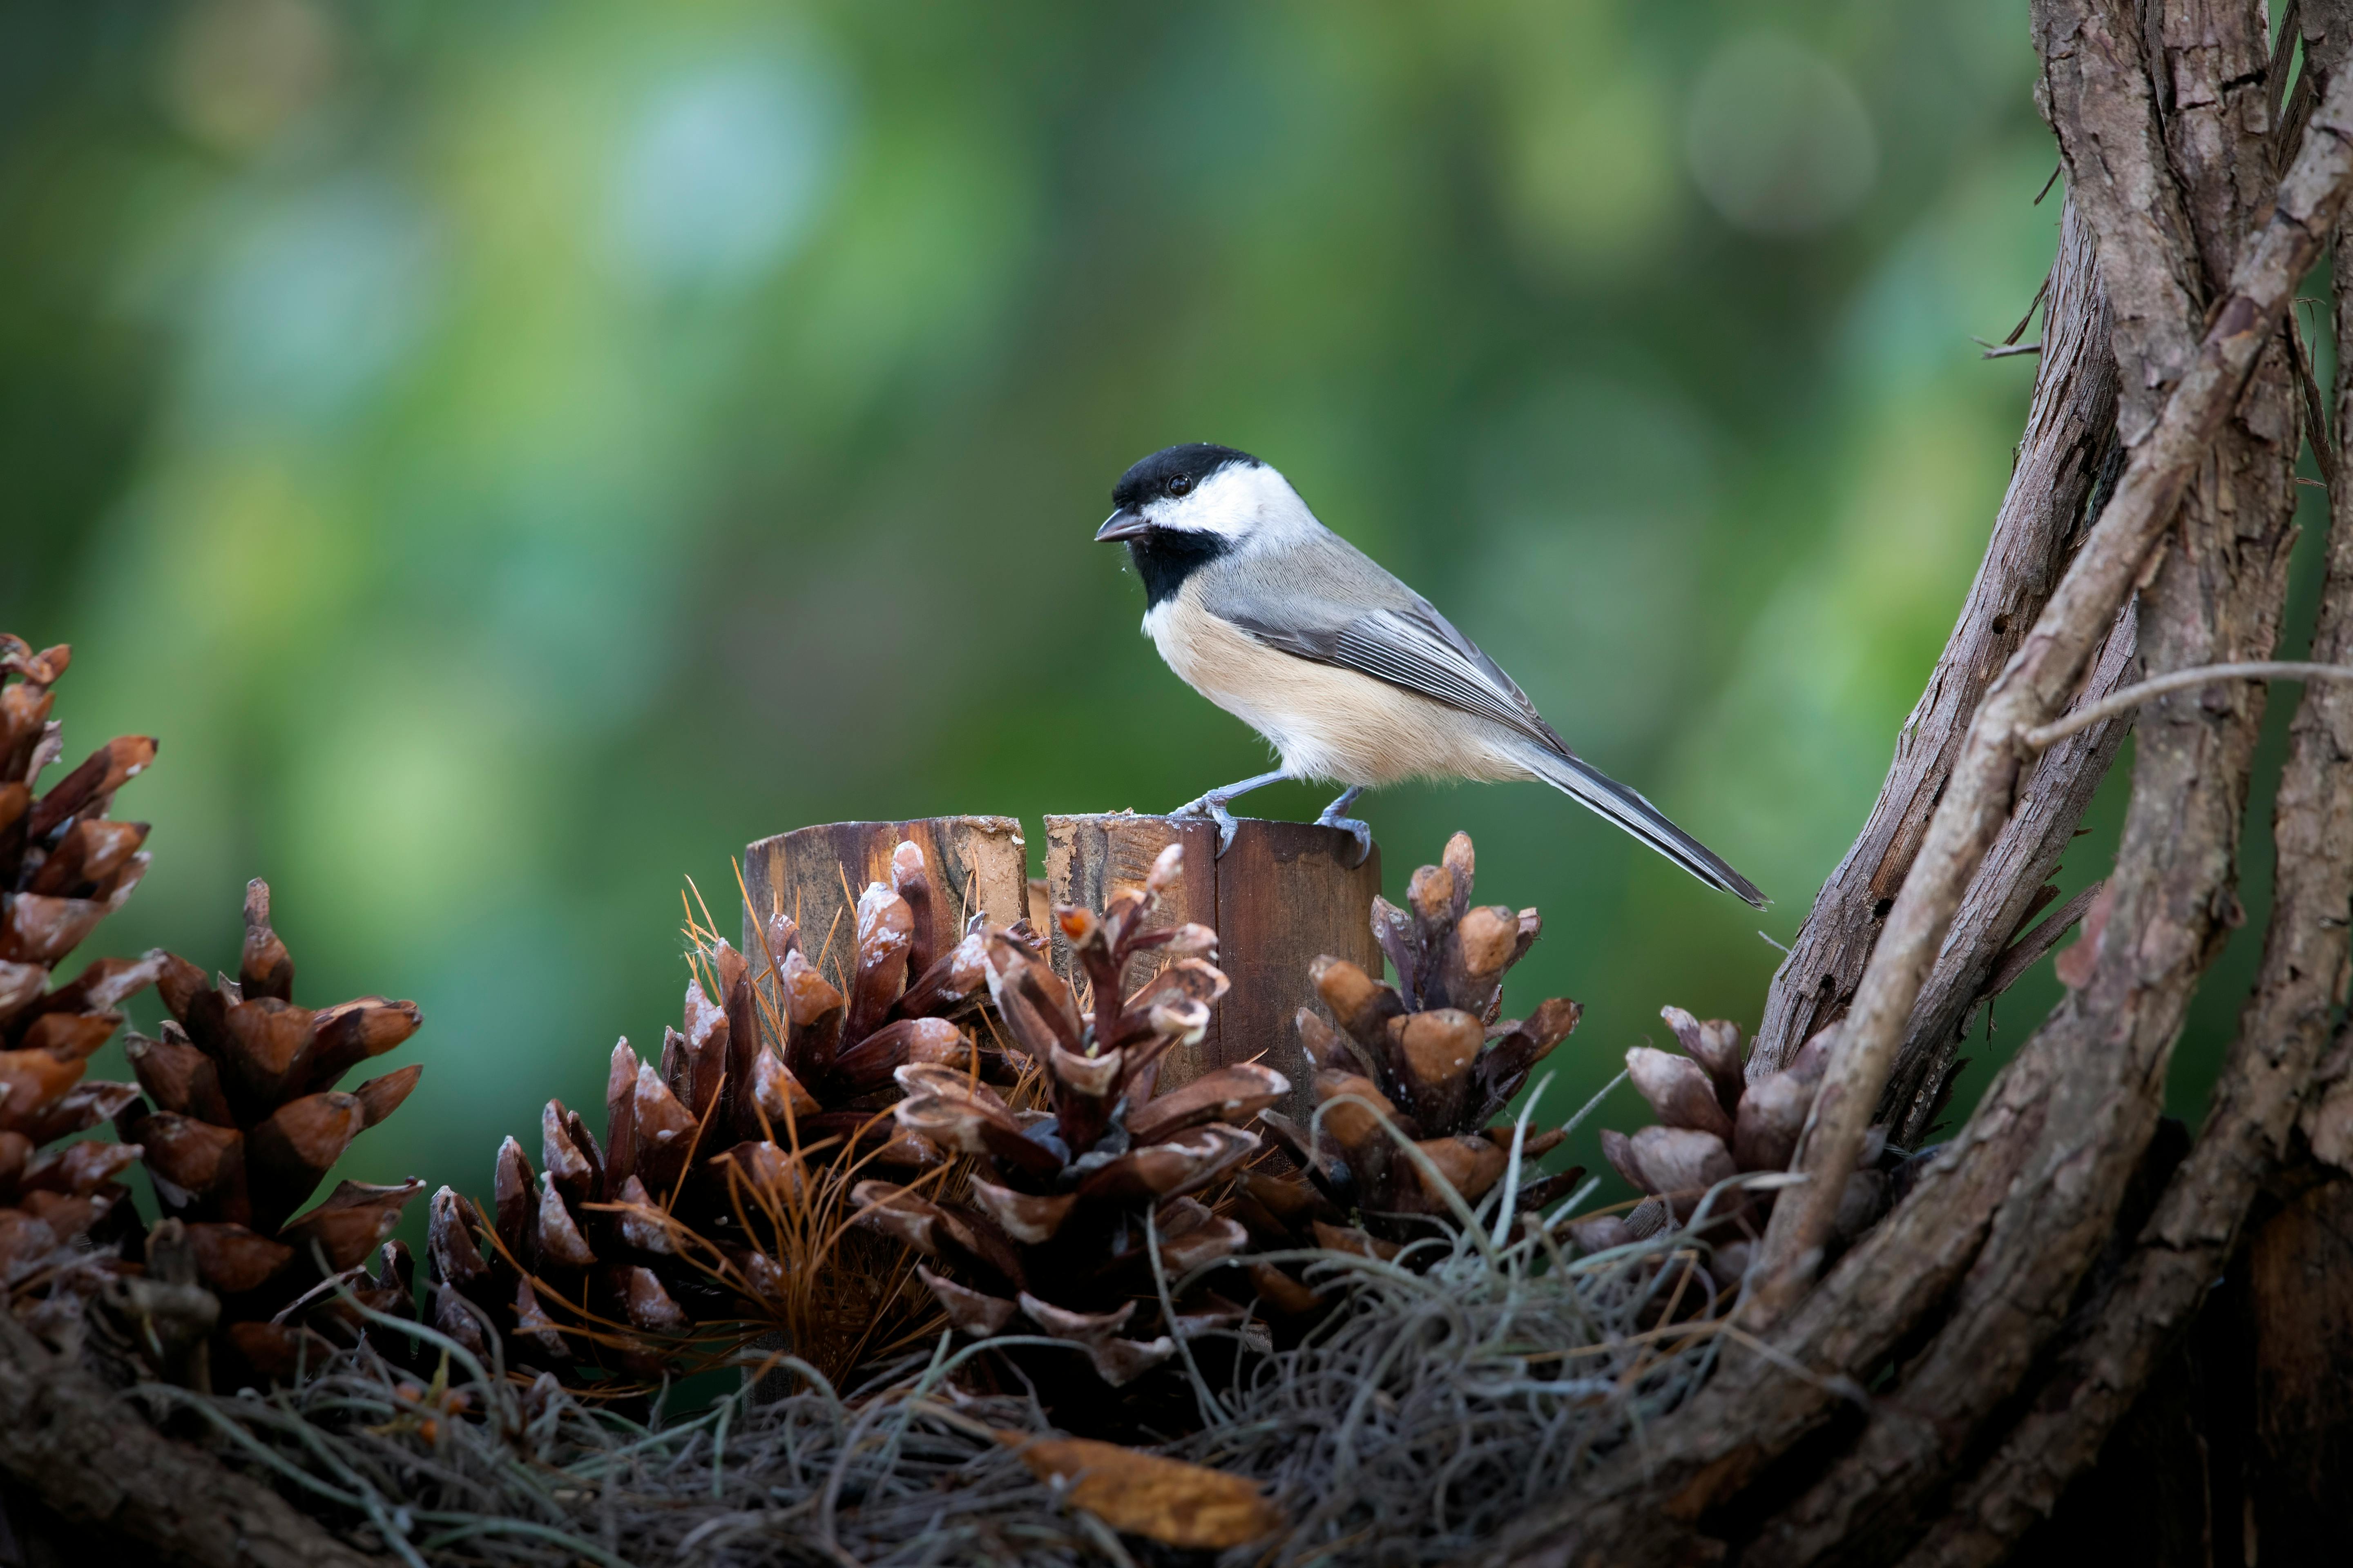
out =
[[[2353,9],[2353,7],[2348,7]],[[2339,223],[2337,254],[2353,256]],[[2337,341],[2353,343],[2353,277],[2337,284]],[[2353,362],[2337,369],[2337,428],[2353,414]],[[2353,491],[2332,494],[2329,564],[2313,658],[2353,661]],[[2353,900],[2353,689],[2313,684],[2297,705],[2273,806],[2278,886],[2254,992],[2214,1084],[2191,1157],[2141,1229],[2122,1274],[2061,1347],[2045,1394],[1951,1514],[1904,1559],[1911,1568],[1991,1566],[2049,1516],[2097,1458],[2158,1361],[2221,1274],[2257,1187],[2287,1154],[2289,1128],[2329,1041],[2348,976]]]

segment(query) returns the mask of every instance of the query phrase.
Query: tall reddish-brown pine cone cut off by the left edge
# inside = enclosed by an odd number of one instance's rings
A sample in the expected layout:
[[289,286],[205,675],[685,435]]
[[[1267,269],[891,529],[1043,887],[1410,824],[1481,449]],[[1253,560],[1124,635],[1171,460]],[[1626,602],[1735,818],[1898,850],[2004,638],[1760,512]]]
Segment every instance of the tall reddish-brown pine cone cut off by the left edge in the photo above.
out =
[[[52,1338],[118,1272],[120,1248],[136,1248],[139,1215],[115,1178],[139,1150],[96,1138],[47,1145],[139,1095],[82,1072],[122,1027],[115,1004],[165,964],[162,952],[96,959],[52,987],[52,971],[146,875],[146,823],[111,820],[106,809],[155,759],[153,741],[122,736],[33,795],[64,750],[49,710],[68,661],[66,646],[35,654],[0,635],[0,1279],[12,1305],[42,1302],[33,1321]],[[59,1281],[73,1288],[52,1291]]]

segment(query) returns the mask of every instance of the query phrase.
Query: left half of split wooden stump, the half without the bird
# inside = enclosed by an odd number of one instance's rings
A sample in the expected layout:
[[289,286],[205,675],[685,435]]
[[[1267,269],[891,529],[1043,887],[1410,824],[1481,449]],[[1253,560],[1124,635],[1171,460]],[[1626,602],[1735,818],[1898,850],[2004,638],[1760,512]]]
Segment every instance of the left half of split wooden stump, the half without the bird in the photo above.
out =
[[819,823],[744,846],[744,954],[765,969],[755,924],[791,914],[800,947],[840,978],[849,954],[859,893],[889,884],[889,853],[913,842],[932,882],[932,952],[965,936],[976,910],[991,926],[1028,914],[1028,846],[1009,816],[927,816],[913,823]]

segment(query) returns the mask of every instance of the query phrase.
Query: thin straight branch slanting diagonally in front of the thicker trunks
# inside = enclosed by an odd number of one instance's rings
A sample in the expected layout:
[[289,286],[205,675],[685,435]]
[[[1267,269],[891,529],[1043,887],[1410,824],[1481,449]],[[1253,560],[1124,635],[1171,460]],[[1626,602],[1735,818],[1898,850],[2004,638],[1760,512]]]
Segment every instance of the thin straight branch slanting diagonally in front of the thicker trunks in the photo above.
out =
[[[2106,148],[2097,146],[2097,134],[2071,139],[2068,132],[2080,127],[2059,110],[2057,82],[2068,45],[2089,31],[2089,21],[2080,16],[2073,28],[2054,26],[2068,21],[2068,12],[2073,7],[2045,0],[2035,7],[2035,19],[2038,42],[2049,61],[2045,89],[2061,122],[2061,150],[2071,169],[2082,169]],[[2146,110],[2146,80],[2137,71],[2134,80],[2141,82],[2137,101]],[[2129,106],[2134,94],[2120,92],[2115,99]],[[1814,1279],[1838,1208],[1840,1178],[1854,1168],[1864,1147],[1864,1131],[1887,1084],[1913,1004],[1972,872],[2009,816],[2026,759],[2017,736],[2049,719],[2071,696],[2092,649],[2108,632],[2146,569],[2148,552],[2174,520],[2200,463],[2207,461],[2207,449],[2247,386],[2257,357],[2275,343],[2275,327],[2294,287],[2311,270],[2344,205],[2346,179],[2353,176],[2348,139],[2353,139],[2353,85],[2341,78],[2329,85],[2327,99],[2315,110],[2297,165],[2280,181],[2268,221],[2240,247],[2231,289],[2155,425],[2134,447],[2115,496],[2035,621],[2035,630],[1972,719],[1960,766],[1929,820],[1913,875],[1887,917],[1887,931],[1864,971],[1854,1009],[1814,1100],[1807,1143],[1800,1150],[1800,1168],[1812,1180],[1774,1208],[1753,1321],[1769,1324],[1781,1316]],[[2078,181],[2089,183],[2080,176]],[[2144,275],[2146,259],[2134,256],[2118,266],[2108,259],[2122,247],[2108,240],[2111,235],[2101,233],[2104,277],[2122,336],[2127,292],[2118,287],[2118,277]],[[2118,360],[2125,364],[2122,353]],[[2125,390],[2129,407],[2129,381]]]

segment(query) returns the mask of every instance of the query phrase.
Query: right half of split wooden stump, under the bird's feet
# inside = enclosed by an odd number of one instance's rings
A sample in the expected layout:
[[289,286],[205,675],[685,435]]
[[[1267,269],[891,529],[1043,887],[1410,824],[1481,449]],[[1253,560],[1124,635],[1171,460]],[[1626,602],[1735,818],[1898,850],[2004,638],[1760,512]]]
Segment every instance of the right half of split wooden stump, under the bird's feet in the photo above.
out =
[[[1329,952],[1381,973],[1372,940],[1372,898],[1381,891],[1381,851],[1351,867],[1355,842],[1337,827],[1242,818],[1233,849],[1219,858],[1212,823],[1165,816],[1049,816],[1045,872],[1054,903],[1101,910],[1122,886],[1141,886],[1153,860],[1184,844],[1184,879],[1169,896],[1169,919],[1217,931],[1217,966],[1233,990],[1209,1018],[1209,1034],[1160,1070],[1162,1088],[1209,1067],[1264,1058],[1292,1081],[1285,1110],[1306,1119],[1315,1110],[1313,1072],[1292,1018],[1313,1006],[1329,1018],[1308,980],[1308,964]],[[1068,950],[1054,940],[1054,969],[1068,973]],[[1127,976],[1141,985],[1158,961],[1139,959]]]

